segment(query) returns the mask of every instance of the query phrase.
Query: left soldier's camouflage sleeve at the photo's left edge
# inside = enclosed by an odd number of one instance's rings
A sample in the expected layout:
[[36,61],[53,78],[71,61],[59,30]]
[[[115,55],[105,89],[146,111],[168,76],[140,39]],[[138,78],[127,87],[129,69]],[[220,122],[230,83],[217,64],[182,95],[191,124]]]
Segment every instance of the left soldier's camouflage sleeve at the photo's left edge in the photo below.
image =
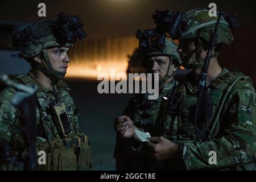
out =
[[4,89],[0,94],[0,138],[10,139],[14,123],[18,118],[18,110],[11,105],[11,98],[14,95],[12,89]]

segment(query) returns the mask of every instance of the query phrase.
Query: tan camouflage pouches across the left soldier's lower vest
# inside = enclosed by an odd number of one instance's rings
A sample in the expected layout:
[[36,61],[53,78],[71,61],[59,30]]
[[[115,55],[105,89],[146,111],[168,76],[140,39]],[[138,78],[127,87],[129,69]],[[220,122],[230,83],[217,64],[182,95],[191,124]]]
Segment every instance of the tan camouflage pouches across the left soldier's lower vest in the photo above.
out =
[[[79,138],[84,139],[81,142],[75,142]],[[84,134],[63,140],[38,142],[36,148],[37,152],[46,152],[46,164],[37,166],[40,171],[86,171],[90,169],[90,146],[87,136]]]

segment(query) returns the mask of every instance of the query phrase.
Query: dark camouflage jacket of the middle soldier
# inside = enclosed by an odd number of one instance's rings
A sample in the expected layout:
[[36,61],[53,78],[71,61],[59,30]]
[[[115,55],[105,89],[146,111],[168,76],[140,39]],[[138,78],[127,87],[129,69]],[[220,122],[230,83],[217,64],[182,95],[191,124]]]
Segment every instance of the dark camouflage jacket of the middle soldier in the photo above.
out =
[[[170,94],[175,80],[164,85],[156,100],[148,100],[146,94],[137,94],[127,104],[123,115],[127,115],[134,125],[144,132],[155,134],[155,124],[163,96]],[[117,137],[114,158],[118,170],[147,170],[151,168],[150,158],[144,150],[134,150],[134,142]]]

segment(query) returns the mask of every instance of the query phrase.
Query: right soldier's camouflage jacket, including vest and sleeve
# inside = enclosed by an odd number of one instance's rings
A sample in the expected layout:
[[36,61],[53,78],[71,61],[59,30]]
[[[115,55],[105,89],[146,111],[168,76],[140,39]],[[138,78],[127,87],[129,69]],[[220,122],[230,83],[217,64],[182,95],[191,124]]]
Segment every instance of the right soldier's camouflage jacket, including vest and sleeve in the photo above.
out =
[[[207,90],[212,103],[208,125],[212,138],[199,142],[194,129],[197,100],[194,89],[190,82],[175,89],[177,106],[170,112],[171,126],[175,127],[170,135],[181,143],[183,150],[181,160],[171,161],[170,168],[177,169],[176,164],[184,163],[188,170],[256,170],[256,94],[250,78],[224,68],[208,84]],[[216,152],[216,164],[209,162],[213,159],[211,151]]]

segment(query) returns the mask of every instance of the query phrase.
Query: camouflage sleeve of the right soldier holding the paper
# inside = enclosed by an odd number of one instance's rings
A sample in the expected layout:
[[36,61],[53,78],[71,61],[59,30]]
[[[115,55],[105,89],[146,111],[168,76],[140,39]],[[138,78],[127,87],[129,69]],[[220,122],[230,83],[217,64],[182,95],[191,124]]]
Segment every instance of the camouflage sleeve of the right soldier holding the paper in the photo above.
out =
[[252,89],[241,90],[235,97],[236,112],[233,113],[235,117],[232,118],[231,127],[224,130],[220,137],[209,142],[184,144],[182,155],[188,170],[236,167],[245,164],[251,164],[251,170],[255,170],[255,92]]

